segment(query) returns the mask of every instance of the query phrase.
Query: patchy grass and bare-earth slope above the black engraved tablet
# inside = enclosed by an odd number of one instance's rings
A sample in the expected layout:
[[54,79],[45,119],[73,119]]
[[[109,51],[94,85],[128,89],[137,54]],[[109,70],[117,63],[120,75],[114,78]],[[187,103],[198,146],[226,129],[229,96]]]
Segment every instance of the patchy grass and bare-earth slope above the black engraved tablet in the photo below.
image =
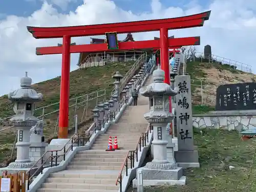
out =
[[217,63],[188,62],[186,72],[191,77],[193,113],[206,113],[215,109],[216,90],[221,84],[255,81],[254,74]]

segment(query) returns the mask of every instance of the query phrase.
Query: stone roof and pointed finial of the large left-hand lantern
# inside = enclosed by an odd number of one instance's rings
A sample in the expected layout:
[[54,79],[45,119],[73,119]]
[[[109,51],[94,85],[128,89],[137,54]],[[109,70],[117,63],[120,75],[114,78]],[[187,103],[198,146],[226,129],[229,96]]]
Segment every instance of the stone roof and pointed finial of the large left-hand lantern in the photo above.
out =
[[12,102],[36,102],[42,100],[42,94],[37,93],[35,90],[31,89],[32,79],[28,77],[28,72],[26,72],[25,77],[20,79],[20,89],[17,89],[8,94],[9,100]]

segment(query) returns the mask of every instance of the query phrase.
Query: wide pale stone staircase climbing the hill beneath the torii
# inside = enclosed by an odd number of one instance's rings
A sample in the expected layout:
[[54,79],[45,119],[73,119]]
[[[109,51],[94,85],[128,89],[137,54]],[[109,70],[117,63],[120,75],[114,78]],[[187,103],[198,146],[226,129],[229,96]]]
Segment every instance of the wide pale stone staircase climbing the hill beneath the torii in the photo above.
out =
[[[119,121],[99,135],[90,150],[78,152],[66,170],[50,174],[37,192],[117,192],[119,171],[127,152],[136,149],[140,134],[146,131],[143,114],[148,110],[148,98],[139,96],[137,106],[127,106]],[[109,136],[117,136],[120,150],[105,151]]]

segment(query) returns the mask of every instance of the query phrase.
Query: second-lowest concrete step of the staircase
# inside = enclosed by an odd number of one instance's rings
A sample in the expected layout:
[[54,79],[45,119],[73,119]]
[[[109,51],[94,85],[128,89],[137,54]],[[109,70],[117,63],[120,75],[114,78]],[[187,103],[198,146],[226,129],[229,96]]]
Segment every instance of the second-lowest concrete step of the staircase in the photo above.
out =
[[101,190],[118,190],[119,186],[113,184],[97,183],[42,183],[42,188],[68,188],[68,189],[101,189]]

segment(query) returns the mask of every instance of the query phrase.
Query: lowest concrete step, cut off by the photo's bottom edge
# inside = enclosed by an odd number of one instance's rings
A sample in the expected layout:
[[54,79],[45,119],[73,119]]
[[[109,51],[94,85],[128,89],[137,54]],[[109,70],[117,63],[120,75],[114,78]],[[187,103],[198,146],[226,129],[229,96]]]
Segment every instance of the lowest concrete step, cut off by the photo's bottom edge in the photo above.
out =
[[[119,185],[118,185],[119,186]],[[70,189],[70,188],[39,188],[36,192],[117,192],[117,190],[102,189]]]

